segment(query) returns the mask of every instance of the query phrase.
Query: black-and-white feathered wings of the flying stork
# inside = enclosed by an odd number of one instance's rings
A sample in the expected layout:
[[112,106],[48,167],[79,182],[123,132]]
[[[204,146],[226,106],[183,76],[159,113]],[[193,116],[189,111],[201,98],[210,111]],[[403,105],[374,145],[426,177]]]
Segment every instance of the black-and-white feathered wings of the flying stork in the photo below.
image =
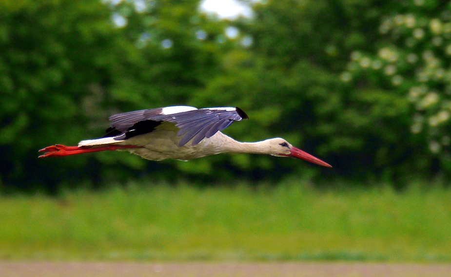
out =
[[188,106],[174,106],[130,111],[112,115],[111,127],[106,136],[116,140],[128,139],[152,132],[161,122],[174,123],[179,128],[177,136],[183,136],[178,146],[193,139],[193,145],[209,138],[217,131],[229,127],[234,121],[248,119],[238,107],[212,107],[196,109]]

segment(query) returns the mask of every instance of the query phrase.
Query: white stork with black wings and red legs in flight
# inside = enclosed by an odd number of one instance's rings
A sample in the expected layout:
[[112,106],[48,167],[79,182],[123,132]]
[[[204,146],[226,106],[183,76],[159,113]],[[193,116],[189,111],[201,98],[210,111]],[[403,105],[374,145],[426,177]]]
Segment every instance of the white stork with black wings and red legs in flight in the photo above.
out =
[[238,142],[223,134],[220,130],[234,121],[248,119],[238,107],[172,106],[119,113],[109,119],[111,127],[104,137],[80,141],[78,146],[49,146],[39,150],[45,152],[39,158],[105,150],[125,150],[154,161],[188,161],[219,153],[254,153],[295,157],[331,167],[282,138]]

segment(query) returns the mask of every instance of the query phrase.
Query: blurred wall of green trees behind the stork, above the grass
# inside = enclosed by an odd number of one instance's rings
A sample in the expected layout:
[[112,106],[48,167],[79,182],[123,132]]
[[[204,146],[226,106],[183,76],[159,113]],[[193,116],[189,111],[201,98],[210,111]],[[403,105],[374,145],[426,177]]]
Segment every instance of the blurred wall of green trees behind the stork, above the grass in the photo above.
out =
[[[2,0],[2,189],[450,178],[449,1],[242,1],[232,19],[206,12],[214,2]],[[333,170],[257,155],[37,159],[101,137],[114,113],[170,105],[240,107],[250,120],[227,134],[284,137]]]

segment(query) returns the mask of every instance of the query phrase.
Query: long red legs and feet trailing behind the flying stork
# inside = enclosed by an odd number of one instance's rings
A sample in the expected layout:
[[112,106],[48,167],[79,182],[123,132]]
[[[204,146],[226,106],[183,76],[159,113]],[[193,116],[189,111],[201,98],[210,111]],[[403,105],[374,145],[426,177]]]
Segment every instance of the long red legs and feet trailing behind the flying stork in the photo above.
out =
[[77,154],[83,154],[83,153],[91,153],[91,152],[99,152],[99,151],[114,151],[117,149],[124,149],[124,148],[142,148],[142,146],[133,146],[133,145],[108,145],[108,146],[101,146],[101,147],[92,147],[92,146],[64,146],[64,145],[52,145],[49,147],[46,147],[44,149],[40,149],[39,152],[46,152],[43,155],[40,155],[39,158],[45,158],[45,157],[62,157],[62,156],[70,156],[70,155],[77,155]]

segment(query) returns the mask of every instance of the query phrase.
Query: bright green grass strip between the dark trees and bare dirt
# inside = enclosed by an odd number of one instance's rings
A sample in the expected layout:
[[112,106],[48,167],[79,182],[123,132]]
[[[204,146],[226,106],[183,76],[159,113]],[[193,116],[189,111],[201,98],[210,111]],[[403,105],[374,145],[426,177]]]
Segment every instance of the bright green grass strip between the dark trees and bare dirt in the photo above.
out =
[[451,189],[113,187],[0,196],[0,259],[451,261]]

